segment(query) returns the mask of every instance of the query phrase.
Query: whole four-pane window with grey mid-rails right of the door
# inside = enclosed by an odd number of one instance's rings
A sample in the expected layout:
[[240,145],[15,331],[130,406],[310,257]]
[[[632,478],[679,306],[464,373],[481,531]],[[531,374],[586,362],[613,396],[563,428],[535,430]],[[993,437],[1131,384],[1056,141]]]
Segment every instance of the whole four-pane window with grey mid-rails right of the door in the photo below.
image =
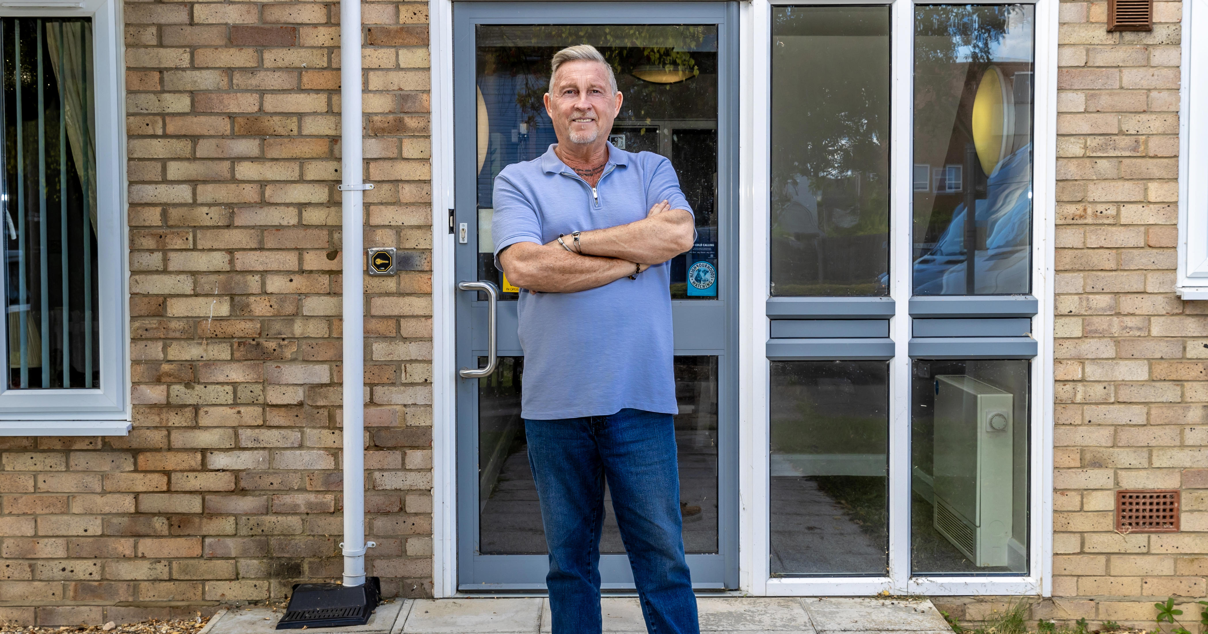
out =
[[1051,7],[769,7],[768,594],[1046,587]]

